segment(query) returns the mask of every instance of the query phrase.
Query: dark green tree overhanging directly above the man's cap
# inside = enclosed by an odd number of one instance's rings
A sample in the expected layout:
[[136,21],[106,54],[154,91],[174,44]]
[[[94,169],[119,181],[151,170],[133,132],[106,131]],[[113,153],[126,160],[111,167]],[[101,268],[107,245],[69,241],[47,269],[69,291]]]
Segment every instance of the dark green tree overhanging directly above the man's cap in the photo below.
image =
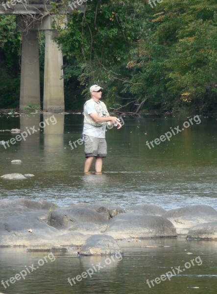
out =
[[129,51],[140,30],[135,3],[141,7],[140,1],[93,0],[84,13],[74,11],[68,16],[67,28],[58,38],[67,63],[64,78],[76,78],[86,98],[94,83],[105,88],[103,95],[111,104],[117,89],[121,90]]

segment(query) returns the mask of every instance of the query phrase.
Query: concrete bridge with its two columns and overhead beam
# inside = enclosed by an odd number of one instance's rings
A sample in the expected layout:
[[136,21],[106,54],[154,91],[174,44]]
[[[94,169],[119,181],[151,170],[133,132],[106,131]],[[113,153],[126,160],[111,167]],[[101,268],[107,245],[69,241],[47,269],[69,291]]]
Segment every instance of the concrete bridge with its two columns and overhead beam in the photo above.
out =
[[[43,110],[63,112],[65,110],[64,83],[61,79],[63,56],[54,41],[56,31],[52,28],[52,23],[58,22],[59,18],[56,15],[45,13],[44,4],[16,4],[12,6],[9,1],[11,8],[5,10],[2,6],[2,3],[5,2],[7,1],[0,1],[0,14],[17,15],[17,26],[22,30],[20,111],[24,112],[28,104],[40,105],[38,35],[39,31],[43,30],[46,36]],[[23,0],[23,2],[25,1]],[[50,6],[46,5],[46,11]],[[39,21],[37,21],[37,16],[39,16]],[[30,24],[28,28],[26,28],[26,24],[27,26]]]

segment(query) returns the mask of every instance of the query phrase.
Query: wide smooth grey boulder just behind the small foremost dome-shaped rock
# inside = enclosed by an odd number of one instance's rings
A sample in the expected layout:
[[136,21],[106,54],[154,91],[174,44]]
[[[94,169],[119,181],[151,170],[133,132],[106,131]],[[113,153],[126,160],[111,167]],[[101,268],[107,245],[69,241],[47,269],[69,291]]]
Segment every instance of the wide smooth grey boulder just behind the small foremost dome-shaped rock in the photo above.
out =
[[115,239],[177,237],[175,227],[167,219],[138,213],[117,215],[109,221],[105,234]]

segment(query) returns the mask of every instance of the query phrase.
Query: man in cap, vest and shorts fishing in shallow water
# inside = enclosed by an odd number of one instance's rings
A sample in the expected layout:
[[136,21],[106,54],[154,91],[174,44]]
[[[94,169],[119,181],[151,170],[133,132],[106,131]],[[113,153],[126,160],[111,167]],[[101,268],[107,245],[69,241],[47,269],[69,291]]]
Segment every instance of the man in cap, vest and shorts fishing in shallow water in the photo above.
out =
[[99,101],[103,88],[98,85],[90,87],[91,99],[84,104],[84,129],[82,137],[85,145],[84,172],[89,172],[94,157],[96,158],[95,170],[102,171],[102,158],[107,156],[105,130],[108,122],[121,128],[121,123],[116,117],[111,117],[105,103]]

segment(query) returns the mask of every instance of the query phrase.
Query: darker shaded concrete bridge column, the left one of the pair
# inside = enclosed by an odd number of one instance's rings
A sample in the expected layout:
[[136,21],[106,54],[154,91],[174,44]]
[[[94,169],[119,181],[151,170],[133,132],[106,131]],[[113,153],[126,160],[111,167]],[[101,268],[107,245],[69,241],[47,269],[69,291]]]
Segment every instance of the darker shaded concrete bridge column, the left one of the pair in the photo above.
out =
[[29,103],[40,105],[40,76],[38,32],[28,31],[22,36],[20,111],[24,112],[22,108]]

